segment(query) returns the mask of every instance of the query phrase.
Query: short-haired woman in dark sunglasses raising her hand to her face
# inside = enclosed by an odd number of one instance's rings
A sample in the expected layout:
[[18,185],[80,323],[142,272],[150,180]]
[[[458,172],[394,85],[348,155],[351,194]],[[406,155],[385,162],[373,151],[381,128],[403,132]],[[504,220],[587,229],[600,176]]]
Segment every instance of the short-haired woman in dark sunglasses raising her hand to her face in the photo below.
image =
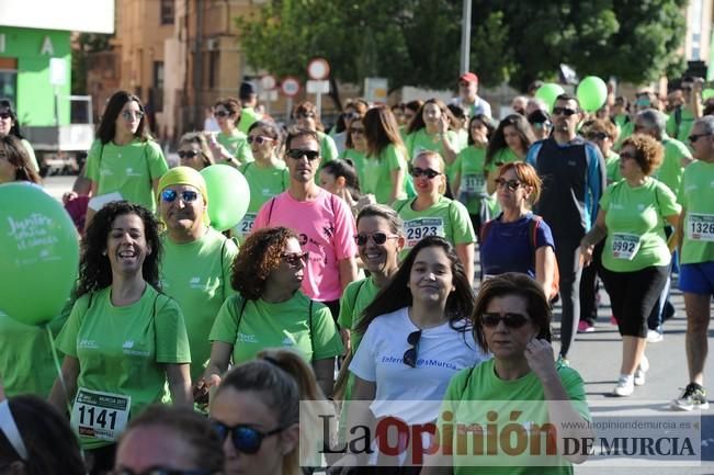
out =
[[[461,371],[449,383],[437,427],[442,436],[450,436],[438,441],[438,454],[426,462],[422,474],[571,474],[571,463],[587,459],[587,452],[573,453],[573,449],[560,455],[566,438],[580,441],[591,438],[592,431],[586,423],[591,417],[582,378],[554,361],[552,317],[543,290],[532,279],[506,273],[484,282],[471,320],[480,350],[494,358]],[[548,423],[556,428],[555,434],[546,432]],[[463,437],[454,429],[458,426],[488,427],[489,439],[495,430],[501,442],[484,450],[477,443],[486,436]],[[523,431],[503,430],[513,427]],[[508,433],[518,437],[505,441]],[[547,444],[534,442],[545,437]],[[513,439],[528,446],[512,450]]]

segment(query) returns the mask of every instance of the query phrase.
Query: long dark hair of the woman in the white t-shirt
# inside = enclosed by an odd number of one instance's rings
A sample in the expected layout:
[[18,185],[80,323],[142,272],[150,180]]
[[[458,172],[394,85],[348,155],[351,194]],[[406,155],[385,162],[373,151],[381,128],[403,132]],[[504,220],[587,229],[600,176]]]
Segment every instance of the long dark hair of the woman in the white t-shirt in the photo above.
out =
[[417,259],[417,255],[422,249],[430,247],[439,247],[443,249],[451,262],[451,273],[453,275],[453,285],[455,290],[446,298],[445,313],[452,328],[460,331],[466,331],[469,325],[457,327],[456,323],[464,318],[468,318],[468,316],[472,315],[475,301],[474,291],[472,290],[466,273],[464,272],[464,265],[461,263],[461,260],[451,242],[439,236],[428,236],[411,248],[405,260],[399,265],[397,273],[392,278],[389,283],[379,291],[377,296],[374,297],[374,301],[372,301],[372,303],[364,309],[364,318],[360,320],[356,326],[356,331],[359,333],[364,333],[372,320],[378,316],[411,305],[411,291],[407,286],[409,283],[409,275],[411,274],[411,268]]

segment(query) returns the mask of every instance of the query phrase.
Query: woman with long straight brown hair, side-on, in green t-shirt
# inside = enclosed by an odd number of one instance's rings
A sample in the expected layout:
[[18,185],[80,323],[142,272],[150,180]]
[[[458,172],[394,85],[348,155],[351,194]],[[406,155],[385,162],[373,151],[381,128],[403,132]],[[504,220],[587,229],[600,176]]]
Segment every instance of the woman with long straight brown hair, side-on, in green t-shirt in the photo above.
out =
[[381,204],[407,197],[407,151],[394,114],[386,105],[377,105],[367,111],[363,122],[367,154],[362,192],[374,194]]

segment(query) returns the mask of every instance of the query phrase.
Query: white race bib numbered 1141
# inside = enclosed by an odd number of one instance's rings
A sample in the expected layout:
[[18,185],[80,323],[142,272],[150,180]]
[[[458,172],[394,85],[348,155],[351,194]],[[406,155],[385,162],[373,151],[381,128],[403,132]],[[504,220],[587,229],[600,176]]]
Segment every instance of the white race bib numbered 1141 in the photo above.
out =
[[82,437],[116,441],[129,418],[132,397],[80,387],[70,425]]

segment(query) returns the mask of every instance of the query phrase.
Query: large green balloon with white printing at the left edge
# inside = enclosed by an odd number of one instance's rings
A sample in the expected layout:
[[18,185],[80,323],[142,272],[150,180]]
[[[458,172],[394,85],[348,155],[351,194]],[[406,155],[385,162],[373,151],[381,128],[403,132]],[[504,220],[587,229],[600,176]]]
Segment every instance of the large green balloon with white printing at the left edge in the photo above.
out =
[[77,228],[42,188],[0,185],[0,309],[25,325],[59,315],[77,279]]

